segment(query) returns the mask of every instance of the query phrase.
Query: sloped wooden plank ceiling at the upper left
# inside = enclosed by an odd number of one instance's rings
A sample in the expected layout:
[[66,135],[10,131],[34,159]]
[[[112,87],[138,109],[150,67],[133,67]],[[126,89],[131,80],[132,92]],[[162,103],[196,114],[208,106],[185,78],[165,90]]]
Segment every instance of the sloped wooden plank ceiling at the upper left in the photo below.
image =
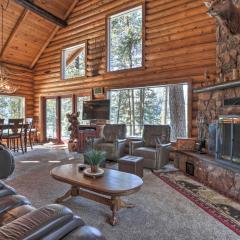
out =
[[[0,0],[0,3],[6,0]],[[78,0],[33,0],[34,4],[65,20]],[[33,68],[59,26],[9,0],[4,12],[4,41],[0,61]]]

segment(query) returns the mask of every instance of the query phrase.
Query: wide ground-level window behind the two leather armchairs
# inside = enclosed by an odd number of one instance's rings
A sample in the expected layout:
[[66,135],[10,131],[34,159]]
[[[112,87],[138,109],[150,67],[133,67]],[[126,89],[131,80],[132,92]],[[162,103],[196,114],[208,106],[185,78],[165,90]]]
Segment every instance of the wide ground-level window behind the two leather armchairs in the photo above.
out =
[[141,136],[144,124],[169,124],[171,138],[187,137],[188,85],[110,91],[111,123],[125,123],[128,136]]

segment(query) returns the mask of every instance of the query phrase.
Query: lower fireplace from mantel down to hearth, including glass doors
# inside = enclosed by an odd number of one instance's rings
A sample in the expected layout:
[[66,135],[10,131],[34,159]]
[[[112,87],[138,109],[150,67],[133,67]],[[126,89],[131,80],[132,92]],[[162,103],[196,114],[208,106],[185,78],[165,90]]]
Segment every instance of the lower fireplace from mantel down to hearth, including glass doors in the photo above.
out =
[[208,153],[179,150],[175,161],[181,171],[191,174],[191,167],[200,182],[240,201],[240,80],[229,82],[195,91],[208,123]]

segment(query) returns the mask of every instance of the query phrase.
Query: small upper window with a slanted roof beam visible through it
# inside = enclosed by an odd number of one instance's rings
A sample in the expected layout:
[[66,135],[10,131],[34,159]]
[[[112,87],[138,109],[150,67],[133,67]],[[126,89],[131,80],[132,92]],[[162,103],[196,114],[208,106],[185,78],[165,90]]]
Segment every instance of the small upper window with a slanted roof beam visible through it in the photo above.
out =
[[62,50],[62,79],[86,75],[86,43]]

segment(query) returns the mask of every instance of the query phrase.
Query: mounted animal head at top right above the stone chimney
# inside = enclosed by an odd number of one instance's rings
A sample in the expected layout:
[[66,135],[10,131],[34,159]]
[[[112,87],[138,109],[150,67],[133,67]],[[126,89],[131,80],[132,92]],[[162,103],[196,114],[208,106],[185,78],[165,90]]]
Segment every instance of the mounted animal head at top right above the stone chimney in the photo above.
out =
[[240,9],[232,0],[209,0],[204,4],[210,16],[216,17],[232,34],[240,34]]

